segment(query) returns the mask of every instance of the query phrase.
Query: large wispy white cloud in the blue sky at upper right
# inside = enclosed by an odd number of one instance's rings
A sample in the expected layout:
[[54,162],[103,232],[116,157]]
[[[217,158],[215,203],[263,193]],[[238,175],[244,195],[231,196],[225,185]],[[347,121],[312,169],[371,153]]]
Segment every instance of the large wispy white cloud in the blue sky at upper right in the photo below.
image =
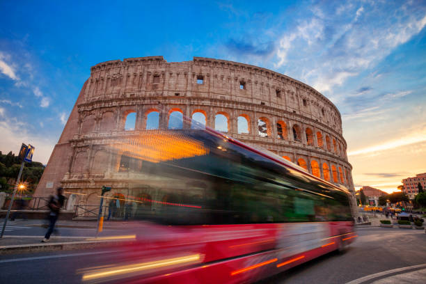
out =
[[343,6],[319,1],[312,6],[311,13],[297,15],[281,33],[275,67],[322,92],[332,93],[374,68],[426,25],[426,6],[416,1],[351,1]]

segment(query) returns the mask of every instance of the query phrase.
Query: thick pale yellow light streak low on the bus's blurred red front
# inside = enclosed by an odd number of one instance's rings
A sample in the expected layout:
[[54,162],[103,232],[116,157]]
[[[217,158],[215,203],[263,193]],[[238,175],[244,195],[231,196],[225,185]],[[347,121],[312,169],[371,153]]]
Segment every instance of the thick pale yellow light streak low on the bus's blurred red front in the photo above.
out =
[[180,258],[169,258],[166,260],[157,260],[152,262],[143,262],[136,265],[125,265],[121,267],[111,267],[111,269],[104,271],[95,271],[83,275],[84,281],[89,281],[97,278],[105,278],[109,276],[116,276],[120,274],[127,274],[135,271],[144,271],[147,269],[154,269],[159,267],[166,267],[170,265],[178,265],[185,262],[194,262],[200,260],[200,254],[182,256]]

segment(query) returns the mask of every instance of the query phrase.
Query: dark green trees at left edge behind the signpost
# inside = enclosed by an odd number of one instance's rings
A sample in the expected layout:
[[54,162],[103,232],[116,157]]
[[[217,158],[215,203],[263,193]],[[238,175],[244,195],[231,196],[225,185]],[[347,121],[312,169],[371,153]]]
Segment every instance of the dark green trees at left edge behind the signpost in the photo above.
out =
[[[21,163],[22,161],[19,161],[19,158],[12,151],[8,152],[8,155],[3,155],[0,151],[0,191],[11,191],[13,189],[13,184],[8,184],[7,181],[9,178],[17,178]],[[32,194],[36,189],[43,171],[45,171],[45,166],[38,161],[24,164],[21,179],[27,185],[27,194]]]

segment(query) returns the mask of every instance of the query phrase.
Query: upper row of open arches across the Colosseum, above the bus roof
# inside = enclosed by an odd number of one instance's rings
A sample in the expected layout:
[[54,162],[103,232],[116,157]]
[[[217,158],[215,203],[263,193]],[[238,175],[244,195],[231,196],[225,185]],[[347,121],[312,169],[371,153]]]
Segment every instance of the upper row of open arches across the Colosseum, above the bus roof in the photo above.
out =
[[[196,129],[207,125],[207,113],[202,109],[195,109],[191,113],[190,125],[184,125],[184,113],[181,109],[174,108],[168,111],[167,120],[164,121],[164,127],[167,129]],[[231,120],[228,113],[218,111],[215,113],[214,123],[210,125],[219,132],[228,133],[231,128]],[[143,129],[159,129],[161,128],[161,115],[158,109],[149,109],[145,111],[143,116]],[[260,116],[256,121],[251,121],[250,116],[246,113],[237,116],[236,129],[233,129],[233,134],[251,134],[258,135],[263,138],[275,138],[278,140],[295,141],[305,143],[306,145],[322,148],[336,155],[345,157],[345,148],[338,139],[329,134],[324,134],[314,127],[301,127],[298,123],[292,125],[287,124],[284,120],[278,120],[274,128],[271,121],[265,116]],[[254,126],[254,127],[253,127]],[[125,130],[136,129],[136,111],[128,111],[125,113]],[[275,136],[275,137],[274,137]]]

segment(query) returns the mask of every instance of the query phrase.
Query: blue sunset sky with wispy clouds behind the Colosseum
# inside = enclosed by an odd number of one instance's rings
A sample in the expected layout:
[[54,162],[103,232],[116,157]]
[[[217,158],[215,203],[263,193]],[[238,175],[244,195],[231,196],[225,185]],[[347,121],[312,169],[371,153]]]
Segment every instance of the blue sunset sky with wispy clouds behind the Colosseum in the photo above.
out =
[[203,56],[319,90],[342,114],[356,188],[392,192],[426,172],[426,3],[345,2],[1,1],[0,150],[31,143],[46,164],[97,63]]

